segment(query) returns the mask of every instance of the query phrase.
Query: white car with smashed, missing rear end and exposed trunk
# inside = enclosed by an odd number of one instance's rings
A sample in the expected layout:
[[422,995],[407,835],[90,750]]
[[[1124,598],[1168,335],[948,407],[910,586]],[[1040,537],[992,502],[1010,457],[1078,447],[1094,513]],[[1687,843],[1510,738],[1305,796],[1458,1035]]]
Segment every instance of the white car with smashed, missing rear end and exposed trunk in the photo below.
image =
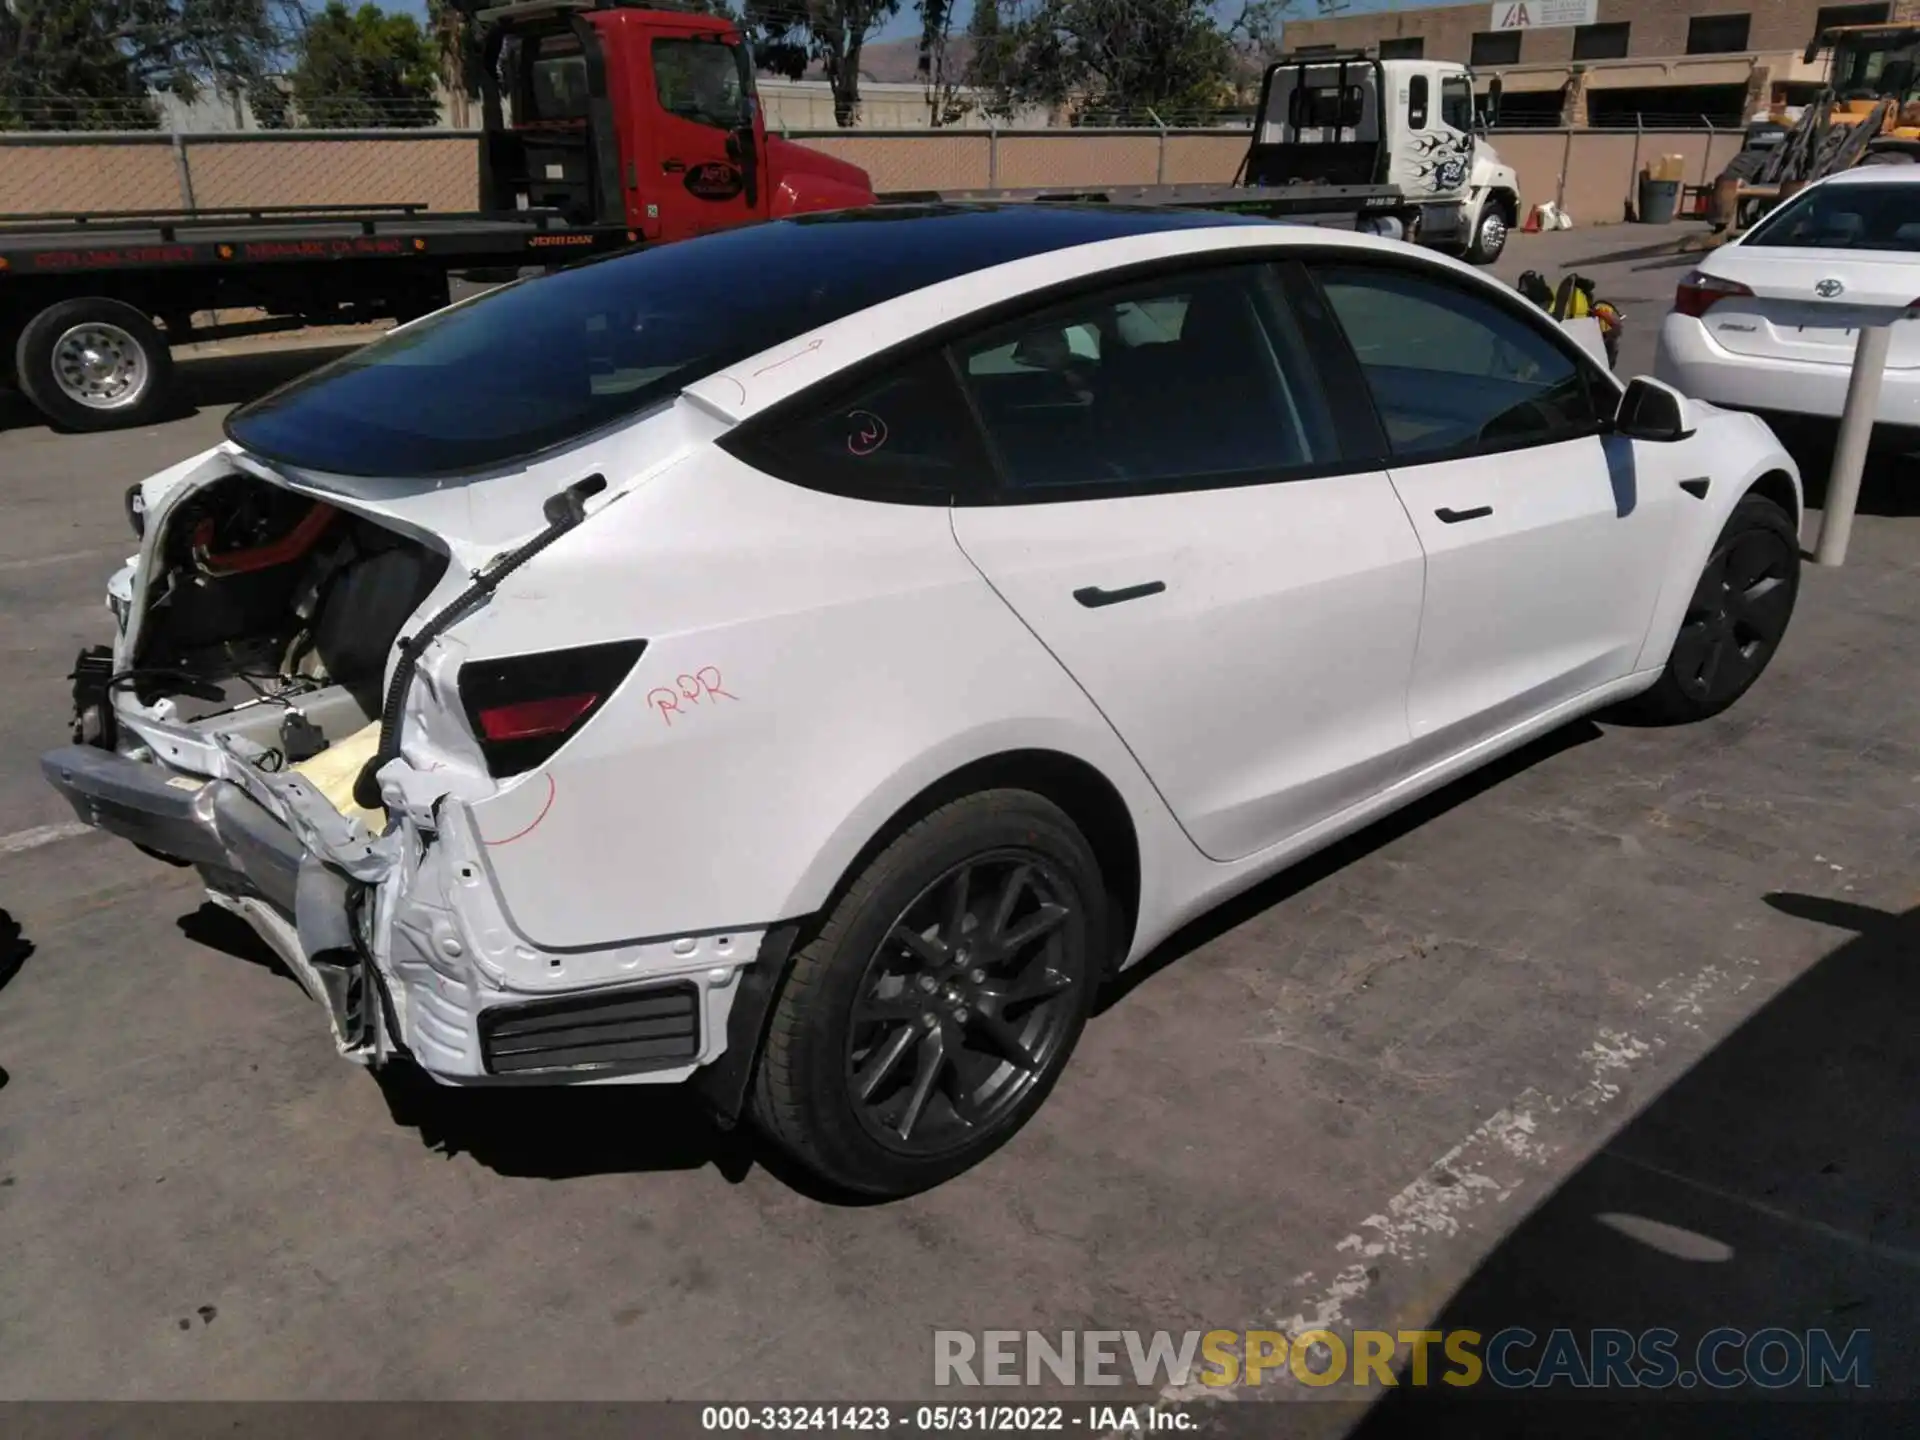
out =
[[52,783],[348,1058],[691,1081],[876,1194],[1006,1140],[1229,895],[1574,716],[1724,708],[1799,582],[1759,420],[1208,213],[645,250],[227,432],[129,495]]

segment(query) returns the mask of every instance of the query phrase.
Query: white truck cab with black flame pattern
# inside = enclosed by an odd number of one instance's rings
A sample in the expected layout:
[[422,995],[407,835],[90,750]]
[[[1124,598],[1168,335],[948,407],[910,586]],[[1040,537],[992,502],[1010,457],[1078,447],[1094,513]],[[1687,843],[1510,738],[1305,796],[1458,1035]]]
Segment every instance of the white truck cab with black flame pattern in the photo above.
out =
[[1246,184],[1390,184],[1407,200],[1405,238],[1475,265],[1500,255],[1521,215],[1519,180],[1475,108],[1473,71],[1365,50],[1296,52],[1267,67]]

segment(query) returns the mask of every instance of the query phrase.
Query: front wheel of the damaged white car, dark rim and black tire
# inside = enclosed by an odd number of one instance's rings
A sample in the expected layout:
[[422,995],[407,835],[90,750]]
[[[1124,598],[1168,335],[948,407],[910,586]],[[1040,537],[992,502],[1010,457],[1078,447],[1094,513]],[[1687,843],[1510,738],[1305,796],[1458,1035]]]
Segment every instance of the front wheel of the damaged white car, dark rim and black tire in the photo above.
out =
[[1628,718],[1684,726],[1720,714],[1766,670],[1799,597],[1799,534],[1764,495],[1743,495],[1713,543],[1667,668]]

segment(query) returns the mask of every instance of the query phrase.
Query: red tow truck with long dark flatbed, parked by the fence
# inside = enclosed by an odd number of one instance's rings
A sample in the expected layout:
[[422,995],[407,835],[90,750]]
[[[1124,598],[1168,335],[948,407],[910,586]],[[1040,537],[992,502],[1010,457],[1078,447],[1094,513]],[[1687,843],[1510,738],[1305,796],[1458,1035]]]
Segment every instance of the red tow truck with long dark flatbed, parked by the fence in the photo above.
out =
[[[726,19],[566,0],[476,19],[488,77],[478,211],[0,215],[0,378],[69,430],[146,424],[173,405],[171,346],[407,321],[445,305],[453,275],[507,278],[874,204],[858,165],[766,132],[753,60]],[[194,324],[236,309],[261,319]]]

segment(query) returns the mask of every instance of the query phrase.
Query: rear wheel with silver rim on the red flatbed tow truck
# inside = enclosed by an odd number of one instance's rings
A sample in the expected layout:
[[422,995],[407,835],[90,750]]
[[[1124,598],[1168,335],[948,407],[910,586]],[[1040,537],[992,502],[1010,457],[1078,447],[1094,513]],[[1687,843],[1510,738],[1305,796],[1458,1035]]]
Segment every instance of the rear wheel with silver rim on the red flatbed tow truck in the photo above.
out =
[[67,430],[117,430],[159,419],[173,390],[173,353],[154,323],[117,300],[48,305],[19,332],[21,392]]

